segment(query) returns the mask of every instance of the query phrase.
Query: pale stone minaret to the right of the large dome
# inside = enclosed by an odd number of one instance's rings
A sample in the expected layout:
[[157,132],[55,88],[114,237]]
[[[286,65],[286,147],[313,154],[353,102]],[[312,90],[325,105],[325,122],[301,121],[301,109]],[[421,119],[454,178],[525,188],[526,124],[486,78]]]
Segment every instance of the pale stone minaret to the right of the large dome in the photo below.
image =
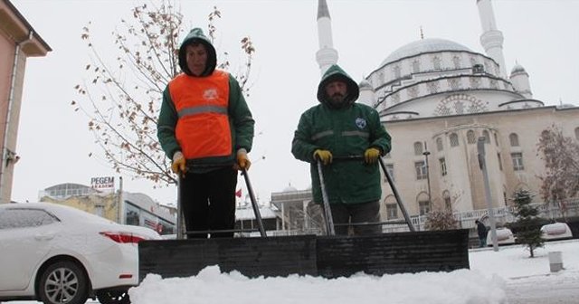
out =
[[507,67],[505,66],[505,56],[503,55],[503,33],[498,31],[495,22],[495,13],[492,10],[490,0],[477,0],[479,6],[480,24],[482,25],[482,34],[480,35],[480,44],[485,52],[494,59],[500,66],[500,74],[507,77]]

